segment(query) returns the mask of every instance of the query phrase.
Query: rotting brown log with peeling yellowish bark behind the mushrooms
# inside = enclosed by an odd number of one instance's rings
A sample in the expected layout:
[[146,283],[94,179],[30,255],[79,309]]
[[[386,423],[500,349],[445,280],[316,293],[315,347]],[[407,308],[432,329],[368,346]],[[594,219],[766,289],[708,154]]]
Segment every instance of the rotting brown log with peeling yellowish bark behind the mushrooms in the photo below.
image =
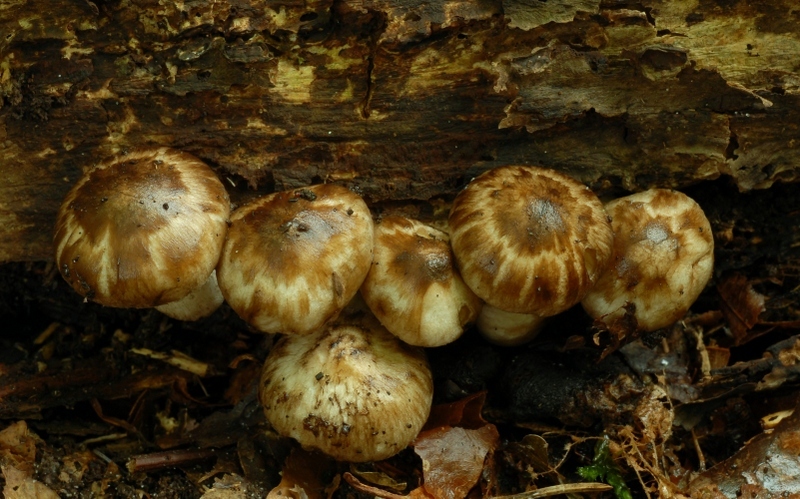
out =
[[[794,0],[5,0],[0,262],[51,258],[84,168],[141,145],[234,200],[448,199],[509,163],[599,192],[800,176]],[[254,190],[255,189],[255,190]]]

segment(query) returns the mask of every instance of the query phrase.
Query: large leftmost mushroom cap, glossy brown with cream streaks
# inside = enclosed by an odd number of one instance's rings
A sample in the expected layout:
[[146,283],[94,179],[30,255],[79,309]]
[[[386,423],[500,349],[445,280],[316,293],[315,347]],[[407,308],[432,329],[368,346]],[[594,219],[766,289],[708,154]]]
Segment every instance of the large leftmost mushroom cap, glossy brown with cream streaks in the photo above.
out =
[[86,298],[145,308],[206,281],[225,239],[230,201],[205,163],[166,147],[115,156],[86,172],[58,211],[61,275]]

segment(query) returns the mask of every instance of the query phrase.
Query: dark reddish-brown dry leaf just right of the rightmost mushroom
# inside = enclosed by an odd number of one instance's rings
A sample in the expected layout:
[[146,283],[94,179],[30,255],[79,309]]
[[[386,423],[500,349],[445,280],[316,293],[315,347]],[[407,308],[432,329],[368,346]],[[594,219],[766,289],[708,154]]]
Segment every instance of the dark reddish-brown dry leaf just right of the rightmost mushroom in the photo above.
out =
[[722,314],[731,328],[736,345],[746,343],[748,332],[756,324],[761,312],[766,310],[764,295],[742,274],[732,274],[717,285]]

